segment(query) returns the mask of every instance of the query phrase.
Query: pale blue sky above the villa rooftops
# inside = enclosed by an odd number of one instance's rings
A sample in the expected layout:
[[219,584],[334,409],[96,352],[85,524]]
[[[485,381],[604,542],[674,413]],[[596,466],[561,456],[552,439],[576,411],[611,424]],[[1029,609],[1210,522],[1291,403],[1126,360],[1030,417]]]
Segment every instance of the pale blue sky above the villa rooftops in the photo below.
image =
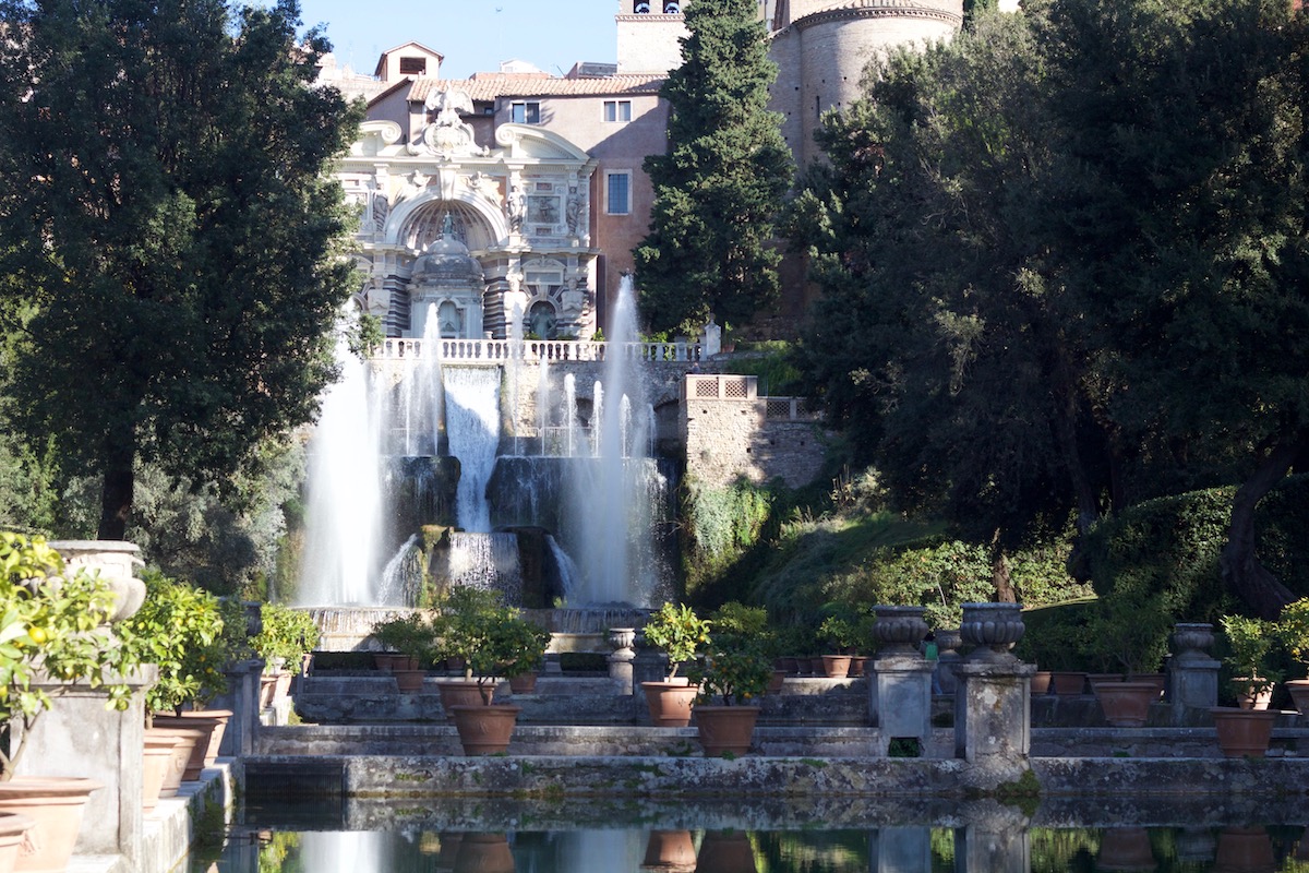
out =
[[563,75],[579,60],[614,63],[619,0],[300,0],[305,26],[326,25],[339,65],[372,73],[387,48],[440,52],[442,79],[526,60]]

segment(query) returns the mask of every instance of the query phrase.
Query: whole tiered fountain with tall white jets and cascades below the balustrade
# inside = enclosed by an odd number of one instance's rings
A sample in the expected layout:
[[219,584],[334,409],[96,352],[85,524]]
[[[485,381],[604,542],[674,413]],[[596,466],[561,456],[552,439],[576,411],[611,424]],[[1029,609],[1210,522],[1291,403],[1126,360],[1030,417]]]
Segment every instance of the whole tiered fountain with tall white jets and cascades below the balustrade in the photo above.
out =
[[408,606],[424,569],[533,607],[613,614],[668,597],[672,474],[652,457],[653,408],[628,355],[634,297],[624,277],[598,380],[590,361],[525,360],[521,339],[442,363],[435,304],[403,357],[343,357],[310,448],[297,602]]

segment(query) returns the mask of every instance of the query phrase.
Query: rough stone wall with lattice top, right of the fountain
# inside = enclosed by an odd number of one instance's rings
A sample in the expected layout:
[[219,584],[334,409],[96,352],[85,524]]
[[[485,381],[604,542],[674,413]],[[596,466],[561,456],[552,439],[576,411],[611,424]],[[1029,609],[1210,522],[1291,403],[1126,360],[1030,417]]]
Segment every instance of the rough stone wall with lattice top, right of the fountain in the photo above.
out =
[[823,432],[796,398],[758,397],[753,376],[689,374],[683,385],[686,471],[709,487],[780,476],[795,488],[822,469]]

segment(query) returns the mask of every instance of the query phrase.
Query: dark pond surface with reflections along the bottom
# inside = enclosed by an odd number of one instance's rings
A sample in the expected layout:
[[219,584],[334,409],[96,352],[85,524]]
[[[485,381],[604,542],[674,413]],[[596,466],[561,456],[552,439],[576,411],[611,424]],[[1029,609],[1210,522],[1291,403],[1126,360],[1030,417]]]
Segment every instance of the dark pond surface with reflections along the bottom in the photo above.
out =
[[[1191,821],[1162,823],[1160,810],[1139,808],[1148,825],[1102,823],[1102,808],[1084,810],[1093,827],[1069,827],[1067,804],[1024,811],[991,801],[956,804],[954,815],[931,823],[891,821],[867,827],[827,827],[809,822],[797,827],[719,827],[729,819],[758,819],[742,806],[683,804],[708,827],[662,827],[644,819],[636,825],[632,805],[605,805],[610,827],[541,828],[512,801],[483,800],[480,819],[459,804],[454,808],[424,801],[348,805],[346,817],[370,822],[439,822],[440,827],[404,826],[374,830],[315,830],[339,827],[340,818],[278,805],[243,811],[225,846],[194,857],[190,873],[1096,873],[1098,870],[1158,870],[1177,873],[1304,873],[1309,870],[1305,815],[1287,809],[1266,810],[1263,823],[1224,823],[1225,805],[1195,814]],[[865,806],[870,801],[850,800]],[[1212,798],[1211,798],[1211,802]],[[1186,806],[1185,801],[1177,801]],[[912,802],[907,806],[912,808]],[[717,811],[713,811],[717,810]],[[517,819],[513,827],[507,817]],[[675,817],[674,817],[675,818]],[[317,819],[317,821],[315,821]],[[637,815],[639,821],[640,817]],[[1058,819],[1059,826],[1049,825]],[[479,825],[482,822],[482,826]],[[624,821],[632,822],[624,826]],[[493,822],[495,828],[486,822]],[[1181,823],[1178,823],[1181,822]],[[274,825],[268,827],[267,825]]]

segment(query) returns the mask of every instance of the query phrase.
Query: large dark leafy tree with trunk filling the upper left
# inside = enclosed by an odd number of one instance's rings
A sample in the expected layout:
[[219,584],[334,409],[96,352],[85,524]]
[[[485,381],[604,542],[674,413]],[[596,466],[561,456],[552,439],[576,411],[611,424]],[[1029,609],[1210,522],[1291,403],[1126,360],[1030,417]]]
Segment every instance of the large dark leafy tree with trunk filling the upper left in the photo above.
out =
[[13,420],[103,476],[102,538],[139,461],[225,486],[332,376],[353,268],[326,171],[359,116],[298,24],[295,0],[0,4]]

